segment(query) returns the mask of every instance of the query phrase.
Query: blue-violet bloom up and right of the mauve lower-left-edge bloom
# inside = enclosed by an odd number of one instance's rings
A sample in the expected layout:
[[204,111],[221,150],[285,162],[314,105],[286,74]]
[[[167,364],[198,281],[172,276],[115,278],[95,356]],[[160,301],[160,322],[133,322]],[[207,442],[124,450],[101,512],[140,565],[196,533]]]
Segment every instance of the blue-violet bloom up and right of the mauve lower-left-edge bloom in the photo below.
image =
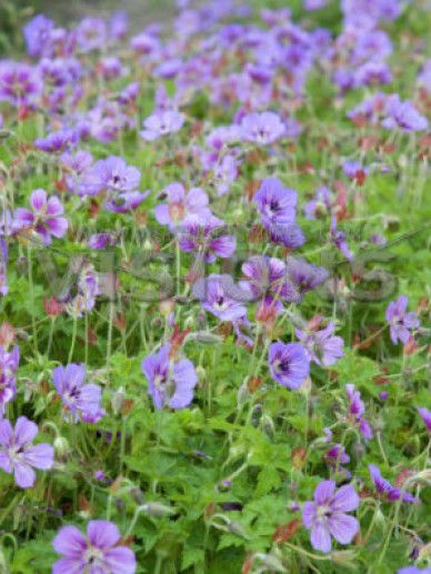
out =
[[103,411],[100,406],[101,390],[97,384],[86,384],[86,366],[71,363],[57,366],[52,371],[53,384],[63,406],[71,414],[73,422],[79,420],[92,422],[100,419]]

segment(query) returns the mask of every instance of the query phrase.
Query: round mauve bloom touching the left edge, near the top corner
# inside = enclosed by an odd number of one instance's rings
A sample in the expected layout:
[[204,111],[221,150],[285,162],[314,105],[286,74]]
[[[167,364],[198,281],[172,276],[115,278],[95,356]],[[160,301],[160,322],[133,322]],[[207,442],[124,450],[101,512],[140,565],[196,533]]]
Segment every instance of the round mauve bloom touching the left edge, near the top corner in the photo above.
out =
[[27,63],[0,62],[0,102],[16,108],[36,103],[42,92],[37,70]]

